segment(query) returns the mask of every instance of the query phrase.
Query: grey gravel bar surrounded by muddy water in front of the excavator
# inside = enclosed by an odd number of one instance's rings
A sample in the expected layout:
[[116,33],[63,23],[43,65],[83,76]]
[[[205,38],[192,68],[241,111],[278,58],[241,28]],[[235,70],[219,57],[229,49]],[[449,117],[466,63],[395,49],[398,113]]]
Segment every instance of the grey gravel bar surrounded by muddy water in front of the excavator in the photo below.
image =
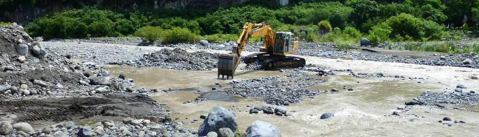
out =
[[287,72],[283,77],[269,76],[248,80],[233,80],[231,89],[223,92],[240,95],[242,97],[261,97],[266,103],[274,105],[289,105],[303,99],[303,97],[318,96],[322,90],[306,90],[305,88],[326,82],[325,79],[311,78],[301,71]]

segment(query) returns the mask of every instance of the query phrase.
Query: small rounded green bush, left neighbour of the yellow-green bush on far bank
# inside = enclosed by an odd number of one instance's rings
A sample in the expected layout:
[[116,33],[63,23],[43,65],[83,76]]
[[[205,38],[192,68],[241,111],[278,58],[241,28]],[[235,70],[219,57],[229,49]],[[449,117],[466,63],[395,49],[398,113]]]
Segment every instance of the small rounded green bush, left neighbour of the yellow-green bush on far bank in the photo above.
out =
[[164,36],[164,30],[160,27],[145,26],[135,31],[134,36],[150,42],[158,41]]

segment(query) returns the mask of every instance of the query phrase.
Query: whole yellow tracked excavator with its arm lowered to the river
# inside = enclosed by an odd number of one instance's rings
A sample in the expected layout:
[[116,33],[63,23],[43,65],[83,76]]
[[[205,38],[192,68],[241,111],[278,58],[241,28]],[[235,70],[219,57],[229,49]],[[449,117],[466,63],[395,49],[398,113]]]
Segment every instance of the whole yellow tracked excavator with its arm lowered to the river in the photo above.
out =
[[296,68],[305,65],[303,58],[294,56],[286,56],[298,52],[298,38],[294,37],[291,32],[274,32],[273,27],[266,23],[250,23],[247,22],[243,26],[243,30],[233,47],[233,51],[229,54],[220,54],[218,60],[218,78],[226,76],[227,79],[234,78],[236,68],[240,64],[240,55],[243,52],[248,39],[251,37],[264,36],[263,46],[260,53],[251,54],[243,58],[246,64],[260,62],[266,70],[278,68]]

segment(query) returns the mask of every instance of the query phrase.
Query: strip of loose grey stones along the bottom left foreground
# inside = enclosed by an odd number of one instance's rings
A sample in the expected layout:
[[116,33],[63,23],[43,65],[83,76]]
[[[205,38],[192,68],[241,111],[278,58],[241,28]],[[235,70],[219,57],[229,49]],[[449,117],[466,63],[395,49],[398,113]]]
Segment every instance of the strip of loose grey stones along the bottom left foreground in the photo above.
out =
[[[123,121],[109,119],[97,123],[76,125],[73,121],[34,130],[25,122],[11,125],[1,122],[0,135],[7,137],[191,137],[196,130],[182,125],[165,122],[155,123],[148,119],[124,118]],[[197,137],[197,136],[196,136]]]

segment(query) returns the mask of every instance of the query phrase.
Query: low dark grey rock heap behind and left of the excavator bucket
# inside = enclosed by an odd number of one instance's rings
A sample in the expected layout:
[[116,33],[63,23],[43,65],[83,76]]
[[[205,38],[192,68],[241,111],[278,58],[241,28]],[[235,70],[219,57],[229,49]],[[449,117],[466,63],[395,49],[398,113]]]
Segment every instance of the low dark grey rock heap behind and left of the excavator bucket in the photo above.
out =
[[138,60],[113,62],[111,64],[128,66],[155,66],[178,70],[211,70],[218,67],[219,54],[198,51],[189,53],[176,48],[174,50],[162,49],[154,53],[145,54]]

